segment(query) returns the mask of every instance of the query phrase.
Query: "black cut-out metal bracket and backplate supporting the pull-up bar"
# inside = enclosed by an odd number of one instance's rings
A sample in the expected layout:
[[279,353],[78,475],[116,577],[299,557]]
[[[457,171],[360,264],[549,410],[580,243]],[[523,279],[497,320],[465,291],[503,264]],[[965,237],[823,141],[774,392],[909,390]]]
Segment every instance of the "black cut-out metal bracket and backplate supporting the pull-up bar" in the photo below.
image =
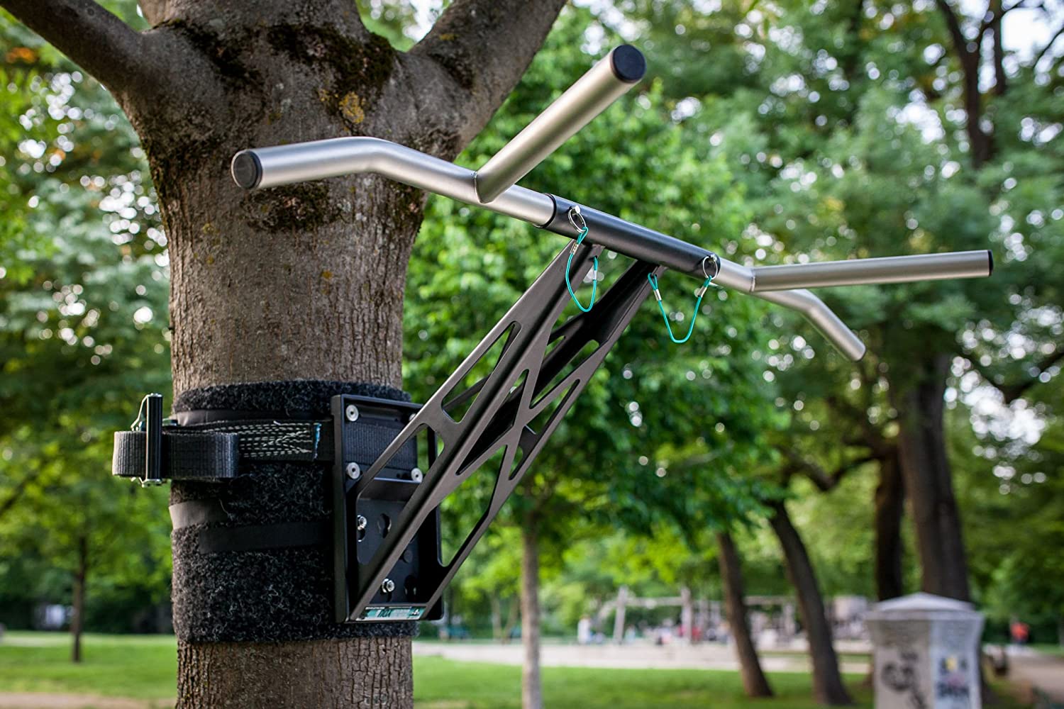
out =
[[[602,248],[571,248],[576,249],[571,273],[579,284]],[[635,261],[592,311],[554,326],[569,301],[569,250],[551,261],[423,406],[398,415],[405,422],[402,432],[368,470],[349,468],[346,454],[337,449],[333,467],[337,622],[416,620],[438,612],[444,589],[649,296],[647,275],[664,271]],[[460,390],[498,342],[501,352],[491,373]],[[334,417],[344,416],[348,399],[333,399]],[[420,474],[413,477],[418,480],[397,478],[397,471],[412,470],[410,460],[416,457],[421,435],[429,437],[427,469],[417,469]],[[437,451],[439,444],[443,449]],[[453,558],[443,561],[434,553],[440,503],[499,454],[491,502]],[[386,516],[379,520],[382,534],[375,534],[369,543],[368,535],[358,541],[360,516],[366,528],[376,524],[367,510]],[[358,550],[354,555],[352,547]],[[411,584],[402,577],[408,572],[414,577]]]

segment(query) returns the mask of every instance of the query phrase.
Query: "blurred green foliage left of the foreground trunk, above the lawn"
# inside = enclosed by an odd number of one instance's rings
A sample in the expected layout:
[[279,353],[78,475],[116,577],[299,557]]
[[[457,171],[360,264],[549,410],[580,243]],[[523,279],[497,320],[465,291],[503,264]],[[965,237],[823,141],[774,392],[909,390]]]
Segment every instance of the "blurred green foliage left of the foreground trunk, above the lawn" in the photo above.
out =
[[169,390],[144,154],[99,83],[6,15],[0,35],[0,102],[17,117],[0,135],[0,604],[68,602],[82,539],[90,597],[98,578],[165,602],[165,493],[110,476],[113,432]]

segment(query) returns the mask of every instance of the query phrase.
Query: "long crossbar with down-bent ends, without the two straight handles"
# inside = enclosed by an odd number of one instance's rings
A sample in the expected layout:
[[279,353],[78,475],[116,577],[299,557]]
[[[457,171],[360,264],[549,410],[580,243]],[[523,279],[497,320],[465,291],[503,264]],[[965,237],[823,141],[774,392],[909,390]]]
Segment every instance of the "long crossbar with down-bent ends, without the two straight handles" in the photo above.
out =
[[[275,148],[256,148],[244,150],[233,157],[233,180],[246,189],[273,187],[309,180],[320,180],[342,174],[372,172],[390,178],[413,187],[444,195],[468,204],[480,204],[472,185],[472,172],[446,161],[380,138],[333,138],[312,142],[278,146]],[[569,236],[576,232],[568,226],[554,227],[559,204],[572,204],[562,198],[535,192],[523,187],[514,186],[488,204],[486,209],[520,219],[536,226],[548,226],[556,234]],[[710,252],[681,241],[671,236],[654,232],[638,224],[632,224],[612,215],[595,210],[596,219],[603,230],[602,236],[610,240],[598,238],[597,243],[614,249],[617,253],[643,258],[668,266],[674,270],[687,273],[696,278],[702,275],[702,259]],[[567,220],[563,220],[567,224]],[[627,230],[638,236],[638,239],[609,238],[613,230]],[[656,243],[662,247],[667,256],[661,259],[661,254],[643,253],[630,248],[633,243]],[[658,256],[655,259],[654,256]],[[667,261],[667,263],[666,263]],[[734,288],[744,292],[753,291],[753,271],[750,268],[735,264],[726,258],[720,259],[720,269],[714,277],[714,283],[726,288]],[[849,328],[813,293],[799,290],[794,292],[754,292],[754,296],[784,307],[797,310],[805,316],[825,337],[835,344],[844,354],[853,359],[860,359],[864,345]]]

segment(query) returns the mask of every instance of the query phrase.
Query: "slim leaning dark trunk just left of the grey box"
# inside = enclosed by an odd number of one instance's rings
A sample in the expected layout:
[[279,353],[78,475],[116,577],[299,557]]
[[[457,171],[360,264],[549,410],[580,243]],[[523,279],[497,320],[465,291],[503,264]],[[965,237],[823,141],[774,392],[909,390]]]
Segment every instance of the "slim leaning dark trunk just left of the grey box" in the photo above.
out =
[[824,597],[816,581],[813,563],[809,559],[805,544],[791,522],[787,508],[782,502],[772,503],[769,519],[772,530],[780,540],[787,577],[798,595],[798,611],[809,641],[810,658],[813,660],[813,696],[827,705],[853,704],[842,675],[838,674],[838,657],[831,642],[831,626],[824,610]]

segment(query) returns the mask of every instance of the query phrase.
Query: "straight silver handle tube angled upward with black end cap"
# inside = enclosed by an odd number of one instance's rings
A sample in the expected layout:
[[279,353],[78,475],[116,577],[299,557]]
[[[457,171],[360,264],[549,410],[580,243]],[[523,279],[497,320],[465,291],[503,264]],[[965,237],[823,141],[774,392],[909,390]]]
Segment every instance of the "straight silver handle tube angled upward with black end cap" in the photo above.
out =
[[477,170],[479,201],[492,202],[528,174],[635,86],[646,69],[646,60],[634,47],[621,45],[611,51]]

